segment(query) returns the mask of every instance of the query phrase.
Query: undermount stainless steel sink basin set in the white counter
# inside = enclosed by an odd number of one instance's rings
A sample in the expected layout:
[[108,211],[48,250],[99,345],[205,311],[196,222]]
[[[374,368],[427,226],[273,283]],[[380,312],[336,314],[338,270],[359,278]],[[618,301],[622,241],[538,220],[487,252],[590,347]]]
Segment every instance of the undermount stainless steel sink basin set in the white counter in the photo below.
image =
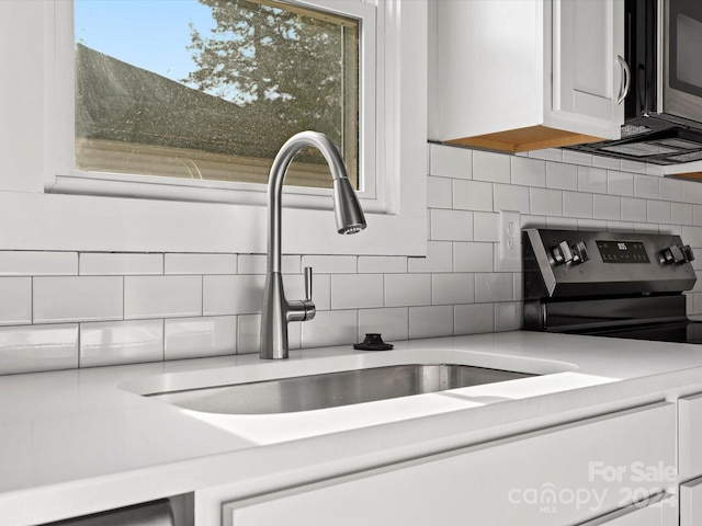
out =
[[146,395],[193,411],[271,414],[336,408],[535,376],[456,364],[409,364]]

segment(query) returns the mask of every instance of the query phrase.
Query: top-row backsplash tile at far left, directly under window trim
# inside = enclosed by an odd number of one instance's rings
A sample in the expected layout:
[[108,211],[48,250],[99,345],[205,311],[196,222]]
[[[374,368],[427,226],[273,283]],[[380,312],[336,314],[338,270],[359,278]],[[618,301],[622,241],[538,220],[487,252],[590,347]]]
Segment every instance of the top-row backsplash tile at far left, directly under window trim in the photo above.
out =
[[0,276],[75,276],[78,252],[0,251]]

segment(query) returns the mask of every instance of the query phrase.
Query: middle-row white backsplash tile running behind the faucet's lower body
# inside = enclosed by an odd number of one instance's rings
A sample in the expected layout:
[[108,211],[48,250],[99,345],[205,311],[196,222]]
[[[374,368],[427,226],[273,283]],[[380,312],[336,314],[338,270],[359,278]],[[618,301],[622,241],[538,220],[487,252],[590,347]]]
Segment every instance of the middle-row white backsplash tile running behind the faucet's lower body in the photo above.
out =
[[261,275],[203,276],[203,313],[225,316],[261,312],[265,276]]

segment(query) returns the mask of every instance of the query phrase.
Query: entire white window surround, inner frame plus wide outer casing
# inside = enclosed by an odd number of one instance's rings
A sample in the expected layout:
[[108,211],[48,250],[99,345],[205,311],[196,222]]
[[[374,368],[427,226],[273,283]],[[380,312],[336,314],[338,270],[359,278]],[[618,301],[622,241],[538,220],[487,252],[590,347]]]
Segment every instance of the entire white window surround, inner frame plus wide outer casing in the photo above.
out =
[[[233,199],[223,197],[222,192],[231,191],[222,190],[217,182],[189,187],[154,185],[141,178],[131,181],[127,176],[106,191],[100,178],[87,183],[86,178],[67,168],[73,156],[73,37],[72,31],[66,31],[72,28],[72,9],[66,9],[66,3],[0,2],[0,19],[14,21],[7,27],[0,25],[0,30],[10,33],[5,42],[14,38],[18,43],[0,47],[0,65],[9,65],[26,81],[14,83],[9,96],[0,102],[3,117],[0,122],[19,132],[5,134],[0,140],[0,155],[9,158],[4,163],[7,170],[0,169],[0,210],[3,210],[0,217],[8,214],[5,225],[14,226],[9,232],[0,232],[1,248],[265,252],[264,192],[259,190],[264,185],[252,185],[256,190],[240,186],[236,204],[227,204]],[[302,3],[326,4],[339,12],[363,5],[359,11],[365,10],[366,20],[369,7],[375,11],[374,4],[361,0]],[[44,23],[36,24],[37,18]],[[286,253],[426,253],[426,0],[378,0],[376,31],[375,44],[381,53],[376,54],[374,83],[378,89],[364,85],[362,96],[365,101],[375,98],[377,111],[375,126],[364,132],[361,157],[375,157],[374,167],[363,170],[376,170],[386,176],[375,195],[369,195],[370,192],[363,197],[369,228],[361,235],[338,236],[326,191],[286,188],[283,201]],[[34,44],[27,45],[30,42]],[[38,65],[37,54],[42,58]],[[42,102],[39,107],[37,101]],[[70,133],[66,132],[66,123],[71,124]],[[42,153],[38,159],[37,152]],[[182,194],[183,190],[188,196]]]

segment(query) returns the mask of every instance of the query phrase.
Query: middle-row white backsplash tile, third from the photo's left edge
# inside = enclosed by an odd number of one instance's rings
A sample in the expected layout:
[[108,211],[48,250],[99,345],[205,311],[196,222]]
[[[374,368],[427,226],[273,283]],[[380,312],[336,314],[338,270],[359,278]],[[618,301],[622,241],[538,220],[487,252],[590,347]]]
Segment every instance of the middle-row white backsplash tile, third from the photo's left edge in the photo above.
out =
[[202,315],[201,276],[126,276],[124,318]]

